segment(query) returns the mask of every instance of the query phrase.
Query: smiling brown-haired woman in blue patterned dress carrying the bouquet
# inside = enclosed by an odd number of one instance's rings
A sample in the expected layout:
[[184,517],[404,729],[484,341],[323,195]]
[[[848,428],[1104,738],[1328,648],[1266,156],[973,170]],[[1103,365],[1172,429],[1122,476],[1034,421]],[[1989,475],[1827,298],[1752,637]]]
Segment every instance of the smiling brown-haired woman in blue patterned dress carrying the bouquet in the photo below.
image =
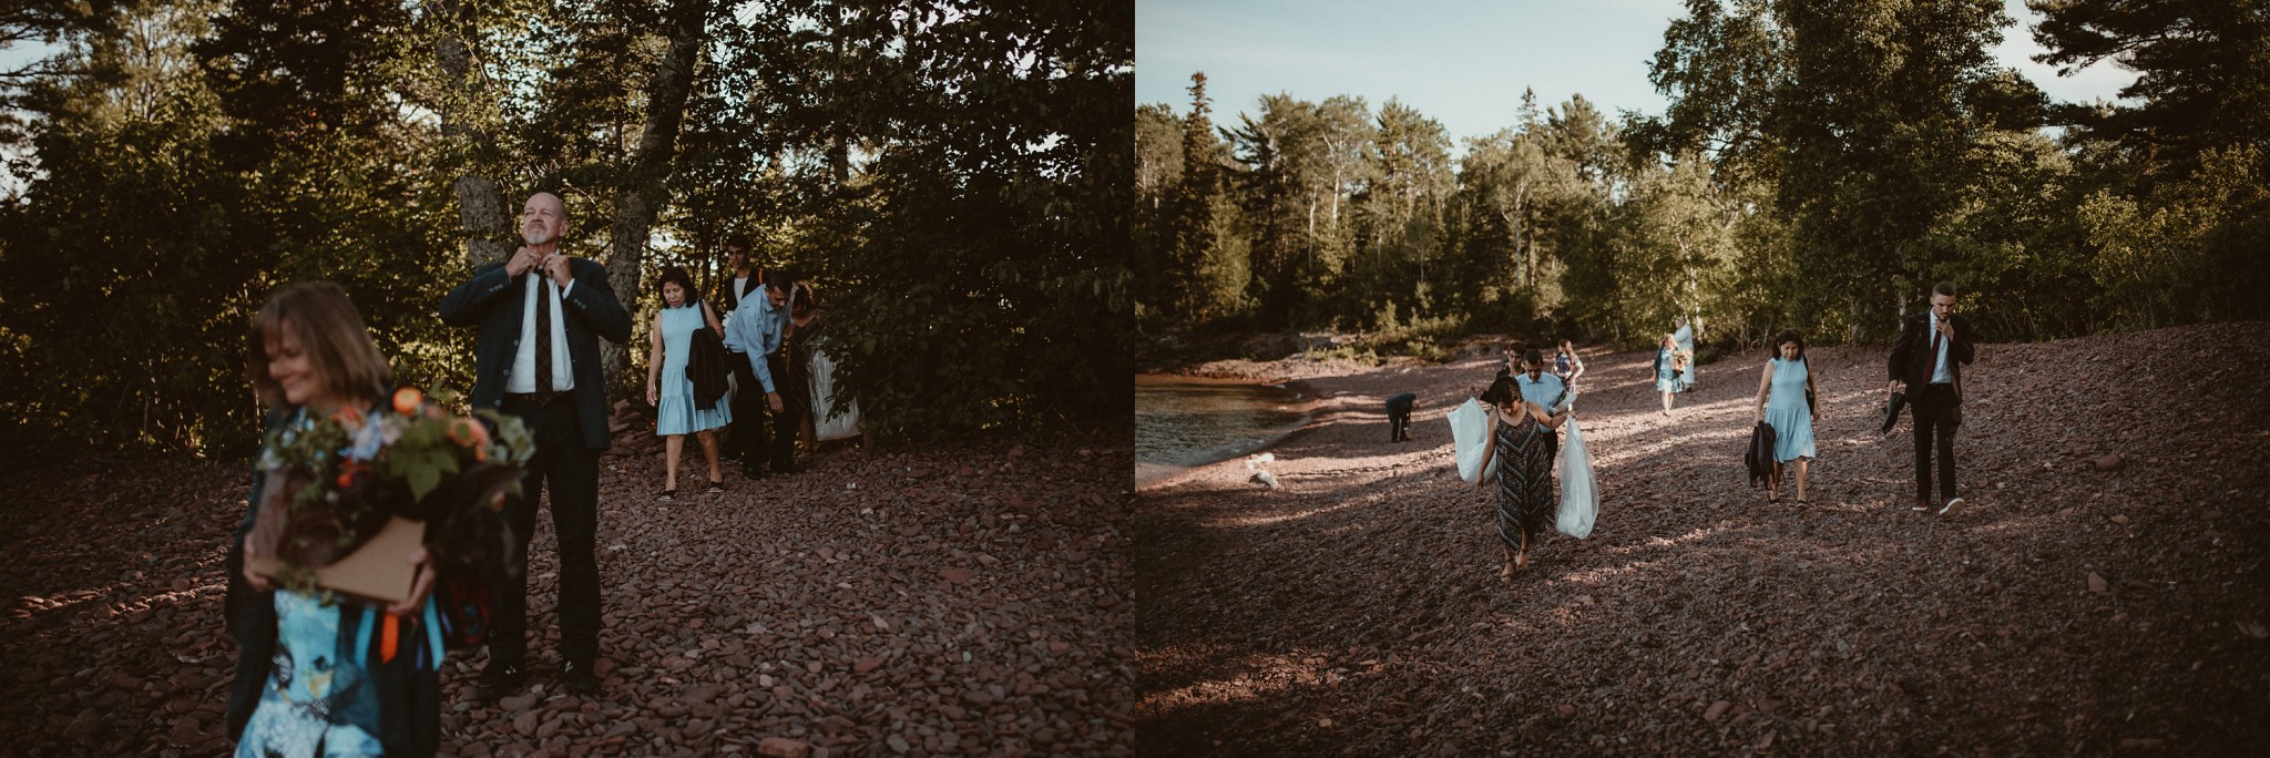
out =
[[[254,515],[263,511],[263,499],[293,495],[263,490],[304,488],[309,479],[275,465],[279,447],[295,438],[316,440],[320,424],[377,424],[390,379],[386,356],[347,295],[336,284],[316,281],[291,286],[261,306],[252,320],[245,372],[270,409],[270,433],[263,465],[252,474],[252,513],[227,558],[227,622],[238,651],[227,717],[236,753],[431,756],[440,742],[440,649],[427,645],[434,640],[427,595],[436,574],[427,549],[409,556],[415,565],[409,597],[384,606],[338,599],[304,583],[284,588],[284,581],[254,570],[263,558],[279,558],[268,554],[279,542],[254,533],[261,522]],[[375,433],[370,438],[372,447],[379,445]],[[363,447],[361,440],[356,447]],[[338,458],[352,456],[338,452]],[[293,517],[300,513],[293,511]],[[272,529],[268,522],[261,527]]]

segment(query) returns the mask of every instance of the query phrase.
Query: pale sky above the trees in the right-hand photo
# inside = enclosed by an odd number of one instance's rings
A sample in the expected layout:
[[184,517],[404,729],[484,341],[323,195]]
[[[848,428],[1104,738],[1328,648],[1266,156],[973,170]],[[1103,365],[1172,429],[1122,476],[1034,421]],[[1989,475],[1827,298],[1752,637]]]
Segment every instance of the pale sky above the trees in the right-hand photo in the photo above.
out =
[[[1519,123],[1521,91],[1548,109],[1582,93],[1603,113],[1662,116],[1648,84],[1680,0],[1137,0],[1135,102],[1189,111],[1189,75],[1205,73],[1214,123],[1235,125],[1262,95],[1298,100],[1360,95],[1378,111],[1389,98],[1444,125],[1451,138],[1496,134]],[[2075,77],[2034,64],[2043,52],[2023,0],[1995,54],[2052,100],[2118,100],[2134,73],[2102,61]],[[2132,100],[2129,100],[2132,102]]]

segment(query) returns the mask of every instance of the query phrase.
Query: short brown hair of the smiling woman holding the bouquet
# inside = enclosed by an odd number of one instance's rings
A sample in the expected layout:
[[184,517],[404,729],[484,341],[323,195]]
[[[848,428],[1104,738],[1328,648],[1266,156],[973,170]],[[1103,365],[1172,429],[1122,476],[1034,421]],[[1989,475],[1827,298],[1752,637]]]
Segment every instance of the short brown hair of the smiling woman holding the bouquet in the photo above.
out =
[[268,406],[284,406],[284,386],[268,377],[268,340],[291,334],[334,397],[384,399],[395,370],[363,327],[347,290],[331,281],[302,281],[268,297],[245,334],[245,379]]

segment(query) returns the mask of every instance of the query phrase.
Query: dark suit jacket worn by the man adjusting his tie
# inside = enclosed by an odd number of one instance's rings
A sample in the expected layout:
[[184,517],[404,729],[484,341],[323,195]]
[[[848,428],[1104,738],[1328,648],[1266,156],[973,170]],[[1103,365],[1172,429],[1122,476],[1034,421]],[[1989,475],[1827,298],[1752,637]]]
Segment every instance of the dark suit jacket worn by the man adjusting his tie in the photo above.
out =
[[[565,320],[561,327],[568,331],[568,361],[574,365],[574,406],[583,418],[583,443],[590,449],[606,449],[606,377],[599,372],[599,338],[617,345],[629,340],[631,313],[622,309],[615,288],[606,284],[606,266],[568,259],[568,270],[574,272],[574,288],[561,300]],[[474,409],[504,404],[504,384],[511,379],[513,356],[520,352],[520,313],[527,302],[527,279],[522,277],[504,275],[504,263],[484,263],[472,270],[472,279],[440,300],[445,325],[479,327]]]

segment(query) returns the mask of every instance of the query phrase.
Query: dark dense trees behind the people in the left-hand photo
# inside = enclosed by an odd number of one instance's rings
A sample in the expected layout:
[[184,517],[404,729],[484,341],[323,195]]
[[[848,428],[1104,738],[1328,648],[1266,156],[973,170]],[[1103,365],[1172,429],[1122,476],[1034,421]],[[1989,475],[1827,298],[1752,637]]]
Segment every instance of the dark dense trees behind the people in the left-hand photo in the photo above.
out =
[[640,329],[733,234],[815,281],[869,433],[1130,413],[1128,5],[27,0],[11,43],[57,54],[0,66],[0,454],[250,454],[245,325],[300,279],[470,390],[436,304],[533,191]]

